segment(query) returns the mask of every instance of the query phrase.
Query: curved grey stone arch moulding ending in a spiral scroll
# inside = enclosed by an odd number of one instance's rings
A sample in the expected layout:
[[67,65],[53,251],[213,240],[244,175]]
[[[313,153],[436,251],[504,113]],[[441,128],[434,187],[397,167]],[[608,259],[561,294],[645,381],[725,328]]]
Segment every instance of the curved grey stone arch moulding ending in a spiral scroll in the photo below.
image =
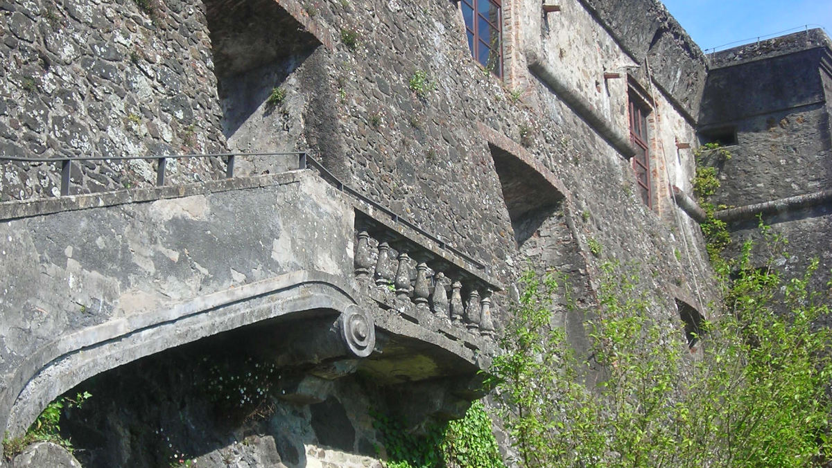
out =
[[329,273],[295,271],[57,338],[6,380],[0,422],[11,436],[22,434],[50,401],[98,373],[202,337],[314,309],[341,314],[344,352],[359,357],[372,352],[374,323],[359,309],[352,288]]

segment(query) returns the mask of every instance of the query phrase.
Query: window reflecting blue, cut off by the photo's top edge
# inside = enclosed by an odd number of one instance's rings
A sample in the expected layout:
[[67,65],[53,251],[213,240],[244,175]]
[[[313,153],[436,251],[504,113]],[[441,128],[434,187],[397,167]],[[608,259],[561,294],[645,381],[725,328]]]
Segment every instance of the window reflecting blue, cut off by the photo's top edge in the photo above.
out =
[[503,77],[503,12],[499,0],[462,0],[468,49],[494,75]]

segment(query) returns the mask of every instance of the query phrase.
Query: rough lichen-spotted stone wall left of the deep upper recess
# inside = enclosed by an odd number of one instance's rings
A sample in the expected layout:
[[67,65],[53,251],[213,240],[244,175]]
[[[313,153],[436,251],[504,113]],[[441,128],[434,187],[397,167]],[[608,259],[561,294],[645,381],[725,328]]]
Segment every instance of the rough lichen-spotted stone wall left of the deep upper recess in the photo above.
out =
[[[4,2],[0,155],[51,158],[225,152],[202,2]],[[172,180],[215,178],[181,160]],[[151,185],[152,161],[87,161],[73,193]],[[3,165],[3,200],[57,195],[53,165]]]

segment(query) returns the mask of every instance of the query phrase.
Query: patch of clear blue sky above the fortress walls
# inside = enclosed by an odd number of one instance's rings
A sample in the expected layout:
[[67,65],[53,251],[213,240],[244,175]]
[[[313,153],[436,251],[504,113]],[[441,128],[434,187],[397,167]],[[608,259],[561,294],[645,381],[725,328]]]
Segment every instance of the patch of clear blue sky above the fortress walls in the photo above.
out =
[[[832,0],[662,0],[705,51],[754,42],[758,36],[800,27],[825,27],[832,36]],[[795,30],[796,31],[796,30]],[[728,42],[745,40],[728,47]]]

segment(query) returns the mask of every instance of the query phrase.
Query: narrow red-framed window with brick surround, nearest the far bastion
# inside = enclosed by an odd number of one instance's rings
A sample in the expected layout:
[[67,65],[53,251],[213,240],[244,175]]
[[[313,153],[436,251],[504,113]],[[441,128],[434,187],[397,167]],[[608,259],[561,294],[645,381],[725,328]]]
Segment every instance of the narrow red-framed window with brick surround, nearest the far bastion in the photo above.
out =
[[[631,158],[632,169],[636,173],[636,183],[639,187],[641,200],[647,208],[653,208],[653,187],[650,173],[650,126],[647,117],[652,113],[652,107],[641,98],[641,93],[630,87],[627,92],[627,123],[630,131],[630,141],[641,151]],[[643,180],[639,176],[643,171]]]

